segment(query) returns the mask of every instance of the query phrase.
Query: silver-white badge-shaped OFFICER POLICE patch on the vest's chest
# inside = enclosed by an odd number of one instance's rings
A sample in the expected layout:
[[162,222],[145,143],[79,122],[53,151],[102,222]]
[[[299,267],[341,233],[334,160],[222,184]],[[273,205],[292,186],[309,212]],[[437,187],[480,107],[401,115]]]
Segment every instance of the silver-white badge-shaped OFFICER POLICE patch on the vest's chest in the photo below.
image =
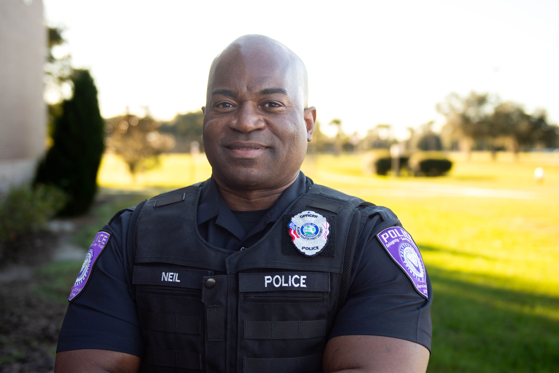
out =
[[314,211],[301,211],[289,223],[289,234],[293,244],[301,253],[312,257],[320,253],[328,242],[330,224]]

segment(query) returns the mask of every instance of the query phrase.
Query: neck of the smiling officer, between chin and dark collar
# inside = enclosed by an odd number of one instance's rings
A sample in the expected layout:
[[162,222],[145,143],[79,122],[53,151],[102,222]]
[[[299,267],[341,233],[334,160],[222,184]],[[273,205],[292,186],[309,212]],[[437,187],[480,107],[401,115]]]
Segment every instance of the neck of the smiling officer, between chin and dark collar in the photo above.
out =
[[299,176],[299,172],[286,184],[272,189],[263,190],[239,190],[231,188],[214,177],[217,188],[221,193],[221,198],[231,210],[239,211],[255,211],[269,209],[273,206],[281,194],[285,191]]

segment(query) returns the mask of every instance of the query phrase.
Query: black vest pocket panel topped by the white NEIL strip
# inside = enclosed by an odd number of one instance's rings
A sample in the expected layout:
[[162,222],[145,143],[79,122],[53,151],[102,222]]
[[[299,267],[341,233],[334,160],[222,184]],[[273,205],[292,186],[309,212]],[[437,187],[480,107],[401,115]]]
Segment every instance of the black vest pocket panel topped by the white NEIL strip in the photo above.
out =
[[203,276],[212,271],[136,266],[132,283],[144,339],[144,373],[200,372],[205,366]]

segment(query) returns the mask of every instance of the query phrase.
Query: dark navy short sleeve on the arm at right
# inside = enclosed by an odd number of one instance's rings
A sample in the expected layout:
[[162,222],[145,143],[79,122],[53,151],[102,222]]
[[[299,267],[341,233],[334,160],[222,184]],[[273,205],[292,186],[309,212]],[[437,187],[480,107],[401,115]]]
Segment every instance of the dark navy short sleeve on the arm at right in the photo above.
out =
[[419,343],[430,351],[433,291],[429,275],[429,298],[425,299],[376,238],[383,216],[396,218],[392,211],[382,209],[383,214],[369,217],[359,238],[347,301],[335,319],[330,338],[348,335],[394,337]]

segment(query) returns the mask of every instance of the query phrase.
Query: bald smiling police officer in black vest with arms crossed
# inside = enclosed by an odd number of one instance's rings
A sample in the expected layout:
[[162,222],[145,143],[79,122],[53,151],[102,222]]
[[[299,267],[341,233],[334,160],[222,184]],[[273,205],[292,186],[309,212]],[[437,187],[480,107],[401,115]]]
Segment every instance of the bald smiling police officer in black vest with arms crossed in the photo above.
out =
[[425,371],[421,255],[389,209],[300,172],[306,104],[305,66],[277,41],[243,36],[217,56],[202,108],[212,177],[97,233],[55,372]]

